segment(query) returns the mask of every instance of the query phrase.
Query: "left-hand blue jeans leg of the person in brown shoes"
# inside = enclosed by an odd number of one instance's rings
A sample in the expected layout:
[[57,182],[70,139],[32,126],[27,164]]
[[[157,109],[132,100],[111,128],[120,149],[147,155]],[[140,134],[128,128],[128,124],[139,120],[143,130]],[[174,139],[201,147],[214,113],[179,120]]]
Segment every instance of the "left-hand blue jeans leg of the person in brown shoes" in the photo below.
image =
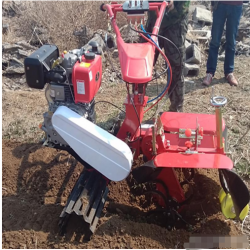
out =
[[216,10],[213,11],[212,40],[210,42],[207,60],[207,73],[212,75],[214,75],[217,67],[218,50],[226,21],[226,12],[226,4],[218,4]]

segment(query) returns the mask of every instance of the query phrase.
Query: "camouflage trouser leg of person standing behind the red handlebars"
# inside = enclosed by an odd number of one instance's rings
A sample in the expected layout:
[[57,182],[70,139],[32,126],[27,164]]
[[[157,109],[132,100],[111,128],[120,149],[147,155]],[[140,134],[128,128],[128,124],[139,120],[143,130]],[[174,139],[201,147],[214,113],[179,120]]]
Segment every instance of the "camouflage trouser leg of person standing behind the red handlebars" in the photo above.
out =
[[164,36],[171,40],[179,49],[168,41],[164,41],[164,50],[172,67],[172,84],[168,91],[171,105],[169,111],[182,112],[185,93],[184,67],[185,67],[185,39],[187,34],[188,19],[168,28]]

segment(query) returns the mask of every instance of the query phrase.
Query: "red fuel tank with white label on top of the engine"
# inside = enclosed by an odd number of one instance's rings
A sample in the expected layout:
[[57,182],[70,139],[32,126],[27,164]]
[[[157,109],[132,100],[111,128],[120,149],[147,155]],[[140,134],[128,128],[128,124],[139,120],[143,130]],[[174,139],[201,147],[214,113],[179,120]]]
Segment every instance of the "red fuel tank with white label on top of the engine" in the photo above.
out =
[[76,62],[72,70],[72,83],[74,87],[75,103],[89,103],[93,100],[101,86],[102,59],[95,55],[95,59]]

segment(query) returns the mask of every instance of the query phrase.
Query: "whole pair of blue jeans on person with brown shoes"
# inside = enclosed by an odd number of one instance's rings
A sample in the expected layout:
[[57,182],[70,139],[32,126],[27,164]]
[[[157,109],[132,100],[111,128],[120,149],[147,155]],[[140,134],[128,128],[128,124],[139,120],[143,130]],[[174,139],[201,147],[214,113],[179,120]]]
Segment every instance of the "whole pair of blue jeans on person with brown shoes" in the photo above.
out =
[[234,54],[236,36],[242,14],[242,5],[229,5],[219,3],[213,12],[212,40],[209,47],[207,60],[207,73],[214,75],[217,66],[218,51],[221,36],[226,22],[226,51],[224,73],[229,74],[234,70]]

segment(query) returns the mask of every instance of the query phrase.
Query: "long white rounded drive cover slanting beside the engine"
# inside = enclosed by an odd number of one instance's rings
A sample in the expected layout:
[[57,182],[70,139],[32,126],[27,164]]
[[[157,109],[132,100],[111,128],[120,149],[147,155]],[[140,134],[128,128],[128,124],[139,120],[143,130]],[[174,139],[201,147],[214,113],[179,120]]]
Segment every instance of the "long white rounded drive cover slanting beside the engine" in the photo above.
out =
[[128,145],[65,106],[52,116],[52,125],[89,165],[112,181],[125,179],[133,155]]

